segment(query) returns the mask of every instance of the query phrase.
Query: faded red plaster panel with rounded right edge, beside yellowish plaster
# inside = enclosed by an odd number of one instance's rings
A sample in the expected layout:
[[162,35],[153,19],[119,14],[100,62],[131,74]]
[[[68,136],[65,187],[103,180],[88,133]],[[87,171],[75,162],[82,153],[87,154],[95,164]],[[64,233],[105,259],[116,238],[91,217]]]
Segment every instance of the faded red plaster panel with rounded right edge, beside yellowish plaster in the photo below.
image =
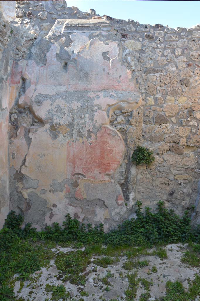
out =
[[91,142],[67,143],[67,178],[81,173],[88,179],[108,180],[121,164],[124,142],[117,131],[103,126]]

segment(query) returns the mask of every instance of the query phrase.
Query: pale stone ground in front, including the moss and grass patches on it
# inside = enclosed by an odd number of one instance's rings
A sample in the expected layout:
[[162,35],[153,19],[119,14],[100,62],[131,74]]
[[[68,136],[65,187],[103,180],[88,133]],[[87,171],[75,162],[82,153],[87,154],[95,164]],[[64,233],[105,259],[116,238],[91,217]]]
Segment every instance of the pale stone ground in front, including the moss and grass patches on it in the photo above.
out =
[[[51,250],[47,267],[29,280],[16,280],[14,292],[19,300],[162,300],[169,281],[181,283],[187,294],[200,273],[198,254],[187,244],[151,250],[94,246],[89,251],[57,245]],[[193,296],[199,300],[197,291]]]

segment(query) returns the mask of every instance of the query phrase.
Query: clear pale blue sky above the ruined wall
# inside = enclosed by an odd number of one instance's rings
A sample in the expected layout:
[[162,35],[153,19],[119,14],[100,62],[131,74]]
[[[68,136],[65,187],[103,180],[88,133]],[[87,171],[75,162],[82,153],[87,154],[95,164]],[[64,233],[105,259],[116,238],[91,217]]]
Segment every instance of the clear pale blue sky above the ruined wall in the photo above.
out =
[[200,1],[67,0],[67,6],[141,24],[188,28],[200,23]]

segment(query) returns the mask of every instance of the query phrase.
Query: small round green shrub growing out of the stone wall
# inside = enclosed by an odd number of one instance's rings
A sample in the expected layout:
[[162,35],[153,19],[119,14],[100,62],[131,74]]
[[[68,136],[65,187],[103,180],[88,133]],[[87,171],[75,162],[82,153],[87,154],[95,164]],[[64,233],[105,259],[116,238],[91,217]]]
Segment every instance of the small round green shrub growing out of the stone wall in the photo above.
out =
[[150,165],[154,162],[155,157],[153,156],[153,152],[150,151],[147,147],[137,146],[136,150],[133,152],[131,160],[139,164],[148,164]]

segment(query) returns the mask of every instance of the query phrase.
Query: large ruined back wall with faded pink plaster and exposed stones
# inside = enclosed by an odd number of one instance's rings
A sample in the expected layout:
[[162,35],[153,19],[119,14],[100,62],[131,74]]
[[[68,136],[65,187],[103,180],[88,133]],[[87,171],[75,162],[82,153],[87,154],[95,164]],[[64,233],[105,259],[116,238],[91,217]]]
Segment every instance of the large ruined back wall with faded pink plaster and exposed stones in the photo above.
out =
[[[16,1],[11,24],[10,209],[38,229],[70,213],[107,230],[161,199],[199,222],[200,26],[64,1]],[[131,162],[137,145],[151,166]]]

